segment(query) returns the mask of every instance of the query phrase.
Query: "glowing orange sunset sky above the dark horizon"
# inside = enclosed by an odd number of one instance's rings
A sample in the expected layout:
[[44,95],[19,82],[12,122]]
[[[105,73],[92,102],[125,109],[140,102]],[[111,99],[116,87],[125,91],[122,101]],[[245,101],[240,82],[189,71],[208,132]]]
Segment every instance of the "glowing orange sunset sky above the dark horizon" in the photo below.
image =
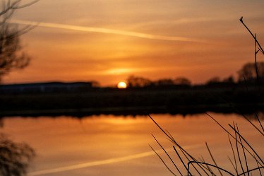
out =
[[260,0],[40,0],[12,18],[39,26],[22,36],[30,66],[4,83],[236,76],[254,57],[239,18],[264,43],[263,7]]

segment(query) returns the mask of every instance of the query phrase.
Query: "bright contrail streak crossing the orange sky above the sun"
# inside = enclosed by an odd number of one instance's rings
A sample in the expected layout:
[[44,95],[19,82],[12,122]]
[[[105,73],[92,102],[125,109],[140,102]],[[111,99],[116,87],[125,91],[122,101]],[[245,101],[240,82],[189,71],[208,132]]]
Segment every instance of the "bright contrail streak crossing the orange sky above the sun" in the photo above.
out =
[[78,30],[88,33],[104,33],[104,34],[114,34],[114,35],[126,35],[130,37],[140,37],[145,39],[152,40],[168,40],[168,41],[182,41],[182,42],[204,42],[203,40],[189,38],[189,37],[172,37],[165,35],[151,35],[146,33],[136,33],[126,30],[114,30],[109,28],[92,28],[92,27],[84,27],[79,25],[64,25],[59,23],[37,23],[35,21],[28,20],[11,20],[11,23],[17,23],[21,25],[37,25],[46,28],[59,28],[65,30]]

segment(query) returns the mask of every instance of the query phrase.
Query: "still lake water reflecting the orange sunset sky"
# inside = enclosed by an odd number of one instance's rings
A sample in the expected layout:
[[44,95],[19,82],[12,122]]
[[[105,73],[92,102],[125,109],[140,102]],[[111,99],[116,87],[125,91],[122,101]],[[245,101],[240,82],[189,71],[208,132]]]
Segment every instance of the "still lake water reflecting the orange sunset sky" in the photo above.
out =
[[[241,133],[263,157],[263,136],[240,115],[210,115],[224,127],[237,122]],[[227,155],[232,156],[227,134],[207,115],[152,117],[193,156],[210,159],[207,141],[218,165],[232,170],[227,159]],[[6,117],[0,132],[35,149],[37,156],[28,175],[172,175],[149,146],[166,158],[152,134],[176,158],[173,144],[146,116]]]

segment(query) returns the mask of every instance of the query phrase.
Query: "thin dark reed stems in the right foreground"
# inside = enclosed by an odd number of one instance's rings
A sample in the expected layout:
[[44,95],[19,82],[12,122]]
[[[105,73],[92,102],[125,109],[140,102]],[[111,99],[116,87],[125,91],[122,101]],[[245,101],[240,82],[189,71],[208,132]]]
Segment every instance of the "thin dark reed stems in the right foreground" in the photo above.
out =
[[[260,87],[260,77],[259,77],[259,69],[258,69],[258,63],[256,60],[256,54],[258,52],[261,52],[264,54],[263,48],[260,46],[258,40],[256,39],[256,35],[253,35],[251,30],[246,26],[246,24],[243,21],[243,17],[240,18],[241,23],[244,25],[244,27],[248,30],[248,32],[252,35],[252,37],[255,40],[255,73],[256,73],[256,80],[258,84],[258,93],[260,96],[260,99],[263,98],[263,90]],[[256,46],[258,44],[258,49],[256,49]],[[263,72],[263,71],[261,71]],[[246,81],[246,74],[243,74],[244,82],[247,83]],[[246,92],[248,95],[251,94],[252,90],[247,90]],[[257,90],[253,90],[253,92],[256,93]],[[239,91],[240,92],[240,91]],[[257,93],[257,94],[258,94]],[[236,97],[234,97],[236,98]],[[246,96],[246,104],[250,104],[250,96]],[[257,100],[257,99],[256,99]],[[261,102],[261,100],[260,100]],[[234,99],[234,103],[236,103],[236,99]],[[240,102],[239,102],[240,103]],[[252,105],[256,103],[253,99]],[[248,107],[246,107],[248,108]],[[230,168],[224,167],[223,165],[219,165],[216,162],[216,157],[212,154],[210,147],[208,146],[208,143],[205,142],[205,146],[208,150],[208,153],[210,155],[210,159],[205,159],[203,156],[200,156],[199,158],[194,158],[188,151],[186,151],[185,148],[183,148],[180,144],[179,141],[174,139],[174,137],[169,133],[169,131],[164,130],[155,120],[149,115],[150,119],[157,125],[157,127],[162,131],[162,133],[166,136],[169,141],[172,142],[173,144],[173,149],[175,153],[170,156],[170,154],[165,150],[165,148],[162,146],[162,144],[153,136],[155,141],[157,141],[158,145],[164,151],[165,156],[167,156],[168,160],[164,160],[164,157],[160,156],[159,153],[155,151],[152,146],[152,150],[157,154],[157,156],[160,158],[162,163],[165,165],[167,170],[172,173],[172,175],[233,175],[233,176],[240,176],[240,175],[263,175],[263,170],[264,170],[264,162],[263,162],[263,156],[261,156],[261,153],[258,153],[255,148],[253,148],[253,145],[250,141],[248,141],[244,137],[244,132],[241,131],[239,125],[236,122],[233,122],[233,124],[228,124],[227,127],[224,127],[217,119],[212,117],[210,113],[205,113],[210,119],[212,119],[222,130],[227,134],[228,139],[229,139],[229,146],[230,149],[232,150],[232,156],[229,156],[228,153],[221,153],[222,156],[227,156],[228,160],[224,163],[228,163],[229,165],[232,166]],[[256,132],[258,133],[258,142],[261,145],[261,139],[263,139],[264,136],[264,128],[263,124],[258,117],[258,114],[255,113],[255,119],[257,119],[258,123],[253,124],[248,117],[245,115],[242,115],[242,117],[248,122],[248,125],[254,127],[256,129]],[[249,131],[246,131],[248,133]],[[251,131],[252,132],[252,131]],[[217,137],[219,135],[217,134]],[[253,143],[256,144],[256,143]],[[198,154],[198,153],[196,153]],[[253,165],[249,162],[249,160],[253,159]],[[254,162],[255,161],[255,162]],[[170,165],[169,165],[170,164]]]

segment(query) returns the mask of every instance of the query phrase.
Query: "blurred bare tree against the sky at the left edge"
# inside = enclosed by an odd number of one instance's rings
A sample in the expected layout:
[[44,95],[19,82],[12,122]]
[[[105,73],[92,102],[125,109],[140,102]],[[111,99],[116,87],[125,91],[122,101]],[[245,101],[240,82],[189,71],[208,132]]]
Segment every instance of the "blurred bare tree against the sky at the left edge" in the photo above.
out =
[[23,69],[28,66],[30,57],[23,52],[19,37],[28,33],[34,26],[27,25],[18,29],[17,25],[9,23],[13,13],[20,8],[28,7],[39,0],[28,4],[20,4],[21,0],[2,0],[0,9],[0,81],[13,69]]

